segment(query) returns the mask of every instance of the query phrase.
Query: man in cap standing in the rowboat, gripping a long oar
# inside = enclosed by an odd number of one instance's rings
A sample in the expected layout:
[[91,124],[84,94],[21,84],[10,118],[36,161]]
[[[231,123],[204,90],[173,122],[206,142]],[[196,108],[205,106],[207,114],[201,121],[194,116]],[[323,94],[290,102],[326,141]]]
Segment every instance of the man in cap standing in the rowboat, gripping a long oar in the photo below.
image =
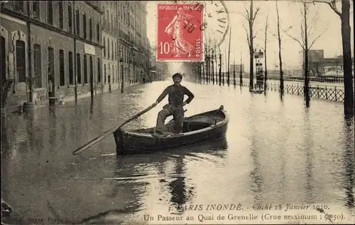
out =
[[[174,132],[173,134],[182,133],[182,125],[184,120],[184,108],[186,104],[189,104],[191,100],[194,98],[194,95],[187,88],[182,86],[181,83],[182,76],[177,73],[173,75],[174,84],[165,88],[163,93],[160,94],[155,103],[153,103],[153,107],[158,105],[165,96],[168,95],[168,104],[163,106],[163,110],[160,110],[158,113],[158,118],[156,122],[156,134],[164,134],[163,127],[165,123],[165,119],[173,115],[174,118]],[[189,98],[184,102],[184,96],[187,95]]]

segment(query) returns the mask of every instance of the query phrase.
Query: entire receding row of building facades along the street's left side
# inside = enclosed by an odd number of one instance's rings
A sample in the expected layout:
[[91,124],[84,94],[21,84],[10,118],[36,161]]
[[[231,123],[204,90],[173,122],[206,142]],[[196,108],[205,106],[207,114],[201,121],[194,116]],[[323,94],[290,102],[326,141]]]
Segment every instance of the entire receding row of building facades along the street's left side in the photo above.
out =
[[[79,98],[142,82],[151,65],[145,1],[1,1],[1,76],[9,101]],[[123,61],[123,62],[120,62]],[[27,83],[27,84],[26,84]]]

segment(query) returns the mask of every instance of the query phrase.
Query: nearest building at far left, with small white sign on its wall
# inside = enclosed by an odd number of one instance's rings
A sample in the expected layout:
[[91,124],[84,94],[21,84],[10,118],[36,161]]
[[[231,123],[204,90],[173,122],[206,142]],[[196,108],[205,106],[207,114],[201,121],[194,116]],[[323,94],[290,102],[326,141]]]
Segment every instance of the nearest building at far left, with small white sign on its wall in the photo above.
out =
[[101,14],[97,1],[1,3],[1,74],[14,81],[9,95],[26,101],[28,77],[35,103],[97,93]]

